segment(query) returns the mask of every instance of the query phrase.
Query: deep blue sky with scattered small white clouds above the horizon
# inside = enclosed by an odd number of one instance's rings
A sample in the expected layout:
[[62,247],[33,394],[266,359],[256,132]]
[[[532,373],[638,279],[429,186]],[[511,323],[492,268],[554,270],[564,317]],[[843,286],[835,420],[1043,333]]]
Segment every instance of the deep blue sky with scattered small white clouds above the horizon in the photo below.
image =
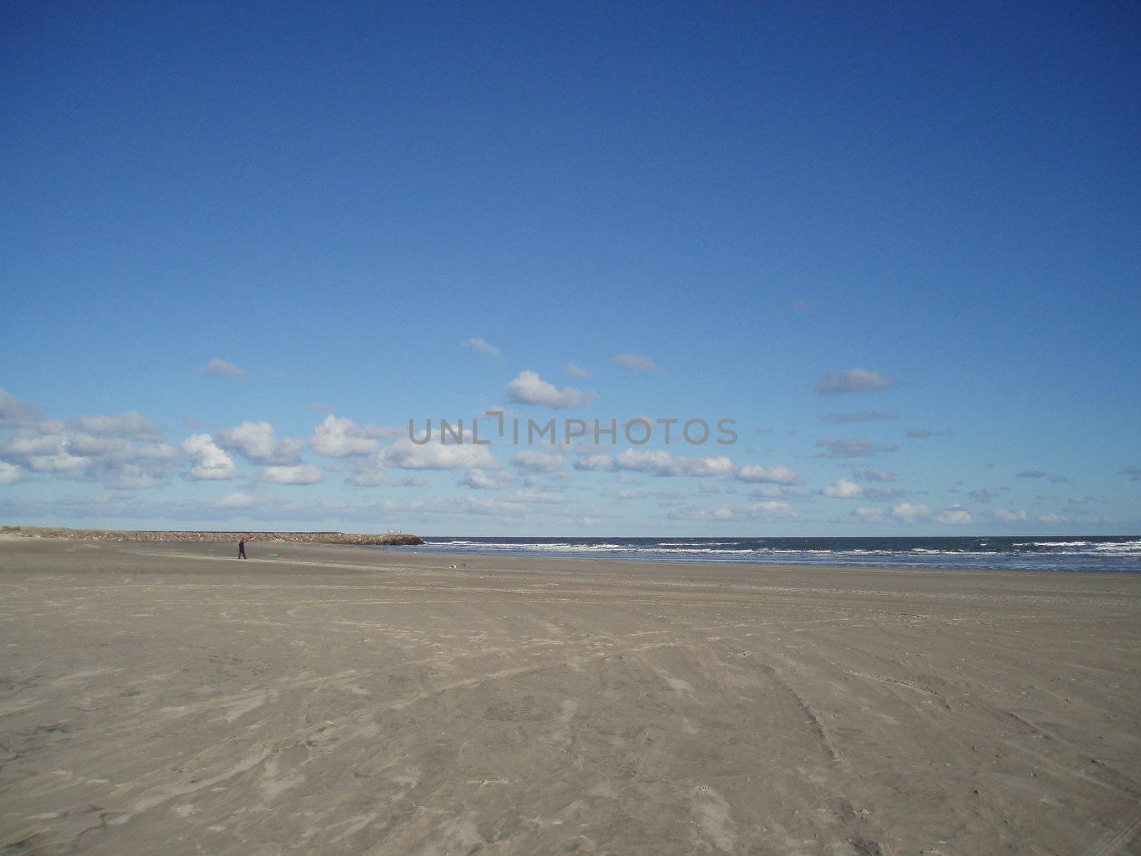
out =
[[1135,5],[0,15],[3,522],[1141,531]]

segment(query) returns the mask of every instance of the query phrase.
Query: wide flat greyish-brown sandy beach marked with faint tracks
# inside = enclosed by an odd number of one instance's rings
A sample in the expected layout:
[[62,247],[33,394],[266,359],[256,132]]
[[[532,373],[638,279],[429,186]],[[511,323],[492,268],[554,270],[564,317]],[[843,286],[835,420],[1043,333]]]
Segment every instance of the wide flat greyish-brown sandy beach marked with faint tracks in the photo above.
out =
[[3,853],[1139,851],[1141,576],[258,548],[0,541]]

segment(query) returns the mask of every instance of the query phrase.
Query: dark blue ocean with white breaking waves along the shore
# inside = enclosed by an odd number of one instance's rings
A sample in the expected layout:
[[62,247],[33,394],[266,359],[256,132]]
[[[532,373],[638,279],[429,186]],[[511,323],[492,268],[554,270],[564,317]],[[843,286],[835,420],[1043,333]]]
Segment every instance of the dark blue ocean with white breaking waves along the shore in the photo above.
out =
[[756,565],[1141,573],[1141,535],[969,538],[426,538],[414,552]]

